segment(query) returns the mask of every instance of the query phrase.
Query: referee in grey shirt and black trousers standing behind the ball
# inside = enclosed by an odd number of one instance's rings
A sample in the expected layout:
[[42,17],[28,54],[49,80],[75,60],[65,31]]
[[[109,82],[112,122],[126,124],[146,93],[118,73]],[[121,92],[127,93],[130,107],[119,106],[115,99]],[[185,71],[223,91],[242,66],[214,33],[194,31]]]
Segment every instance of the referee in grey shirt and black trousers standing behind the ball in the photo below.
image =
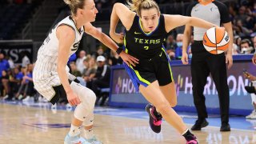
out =
[[[202,127],[208,126],[208,122],[206,121],[206,118],[208,118],[205,103],[206,98],[203,95],[203,90],[207,82],[207,77],[211,74],[212,78],[214,79],[216,89],[218,90],[218,99],[222,120],[220,131],[230,131],[230,94],[229,87],[227,85],[226,64],[228,69],[230,69],[233,64],[233,31],[228,9],[222,2],[214,0],[199,0],[188,7],[186,14],[187,16],[202,18],[207,22],[214,23],[217,26],[223,25],[230,36],[229,49],[227,50],[226,56],[224,53],[217,55],[210,54],[202,45],[202,38],[203,34],[206,32],[206,29],[194,27],[194,43],[191,45],[191,76],[193,84],[194,106],[198,111],[198,120],[195,122],[194,126],[191,127],[191,130],[201,130]],[[186,26],[182,46],[183,64],[188,64],[188,56],[186,51],[190,43],[191,33],[192,26]]]

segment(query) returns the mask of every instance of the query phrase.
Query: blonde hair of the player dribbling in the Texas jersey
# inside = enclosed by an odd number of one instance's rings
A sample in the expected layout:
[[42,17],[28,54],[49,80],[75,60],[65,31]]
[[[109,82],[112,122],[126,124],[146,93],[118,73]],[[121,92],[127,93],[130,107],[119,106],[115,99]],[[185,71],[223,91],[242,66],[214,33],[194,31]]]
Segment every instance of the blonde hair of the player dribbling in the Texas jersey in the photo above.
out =
[[151,8],[156,8],[158,14],[160,14],[158,4],[154,0],[127,0],[127,6],[131,11],[136,12],[139,17],[142,17],[141,10],[149,10]]

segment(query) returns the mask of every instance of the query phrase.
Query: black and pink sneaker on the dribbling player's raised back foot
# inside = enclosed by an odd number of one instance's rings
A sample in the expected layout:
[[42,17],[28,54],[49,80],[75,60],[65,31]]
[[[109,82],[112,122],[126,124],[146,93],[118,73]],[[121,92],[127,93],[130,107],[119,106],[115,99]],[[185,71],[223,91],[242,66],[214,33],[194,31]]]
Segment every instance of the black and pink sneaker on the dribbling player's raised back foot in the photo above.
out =
[[146,105],[146,112],[149,114],[150,117],[150,128],[155,132],[155,133],[160,133],[161,131],[161,124],[162,124],[162,115],[158,114],[155,115],[155,106],[152,104],[147,104]]

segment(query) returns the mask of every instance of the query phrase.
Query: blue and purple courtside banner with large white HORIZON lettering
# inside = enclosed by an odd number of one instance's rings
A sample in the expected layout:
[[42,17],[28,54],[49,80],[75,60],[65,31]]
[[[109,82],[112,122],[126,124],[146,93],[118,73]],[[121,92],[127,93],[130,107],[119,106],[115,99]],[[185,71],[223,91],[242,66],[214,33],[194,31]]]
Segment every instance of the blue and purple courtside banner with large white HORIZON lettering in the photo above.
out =
[[[175,65],[171,67],[178,95],[177,109],[194,111],[194,99],[192,95],[192,82],[190,65]],[[247,94],[245,86],[250,85],[248,79],[243,77],[243,70],[256,75],[256,66],[251,61],[234,61],[234,65],[227,70],[227,82],[230,88],[230,114],[248,114],[253,109],[250,94]],[[113,68],[111,82],[110,106],[144,107],[146,99],[136,92],[134,86],[122,67]],[[218,92],[213,79],[207,78],[204,89],[206,107],[218,113]]]

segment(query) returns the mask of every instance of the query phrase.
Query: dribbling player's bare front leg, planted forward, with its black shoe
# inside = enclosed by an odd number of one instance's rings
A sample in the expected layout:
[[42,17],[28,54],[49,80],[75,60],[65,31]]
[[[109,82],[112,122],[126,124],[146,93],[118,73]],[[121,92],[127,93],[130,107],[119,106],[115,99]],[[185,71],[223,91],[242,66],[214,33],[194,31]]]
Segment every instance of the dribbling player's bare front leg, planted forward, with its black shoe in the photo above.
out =
[[182,134],[187,142],[196,142],[194,134],[191,134],[190,131],[186,128],[185,123],[182,121],[182,118],[170,107],[169,102],[162,94],[162,91],[159,88],[158,81],[152,82],[149,86],[139,86],[139,90],[143,96],[152,103],[158,112],[162,114],[162,117],[165,118],[171,126],[174,126],[178,133]]

